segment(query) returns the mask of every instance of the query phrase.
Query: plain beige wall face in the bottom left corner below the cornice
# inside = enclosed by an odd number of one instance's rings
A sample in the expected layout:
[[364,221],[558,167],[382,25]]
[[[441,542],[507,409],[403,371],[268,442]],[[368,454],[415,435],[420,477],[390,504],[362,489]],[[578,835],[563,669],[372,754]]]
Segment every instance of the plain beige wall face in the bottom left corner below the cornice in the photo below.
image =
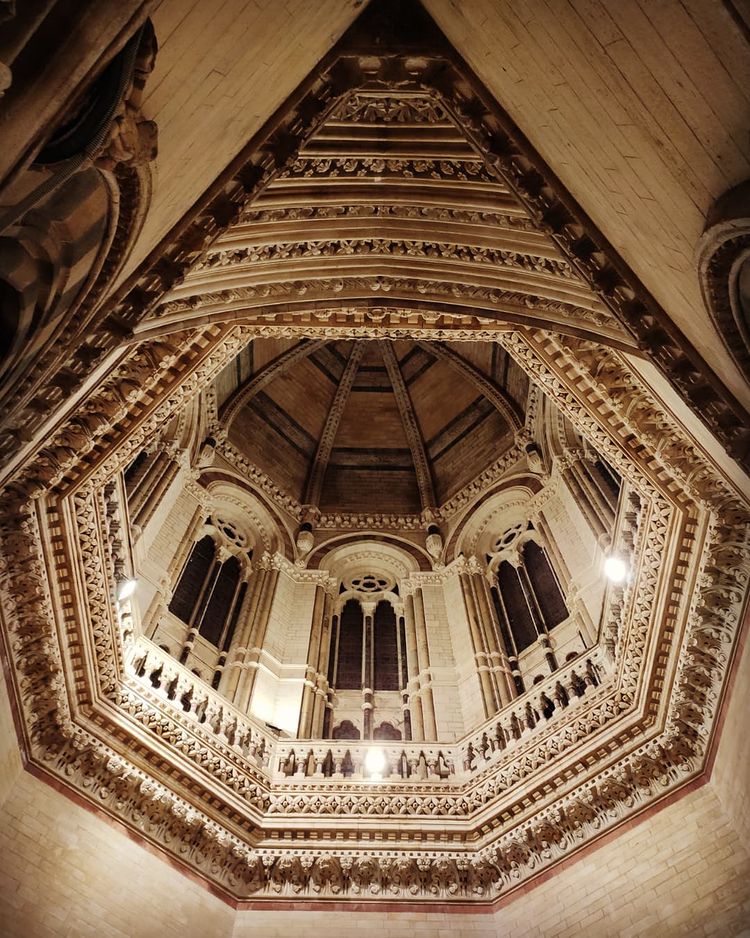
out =
[[0,821],[0,934],[7,938],[225,938],[220,899],[24,773]]

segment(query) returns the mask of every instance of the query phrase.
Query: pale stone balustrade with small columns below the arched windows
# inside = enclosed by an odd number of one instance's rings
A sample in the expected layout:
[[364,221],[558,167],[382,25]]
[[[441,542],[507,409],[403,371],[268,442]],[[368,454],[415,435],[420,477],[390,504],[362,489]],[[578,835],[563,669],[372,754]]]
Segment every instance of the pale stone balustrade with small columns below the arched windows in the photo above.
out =
[[[144,636],[132,643],[130,674],[181,710],[203,732],[232,748],[276,782],[350,779],[460,783],[507,750],[523,745],[598,687],[607,658],[592,649],[534,685],[456,743],[392,740],[307,740],[281,737],[240,713],[197,675]],[[384,764],[368,764],[377,748]]]

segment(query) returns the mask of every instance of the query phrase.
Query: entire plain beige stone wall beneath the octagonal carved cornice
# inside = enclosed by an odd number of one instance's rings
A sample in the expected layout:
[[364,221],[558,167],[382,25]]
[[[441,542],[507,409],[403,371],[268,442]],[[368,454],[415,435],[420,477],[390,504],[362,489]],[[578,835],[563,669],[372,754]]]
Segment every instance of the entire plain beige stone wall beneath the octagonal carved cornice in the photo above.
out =
[[[21,771],[2,713],[0,933],[7,938],[274,938],[324,932],[378,938],[669,938],[746,935],[747,677],[738,669],[712,782],[523,887],[491,913],[234,912],[124,831]],[[744,820],[743,820],[744,819]]]

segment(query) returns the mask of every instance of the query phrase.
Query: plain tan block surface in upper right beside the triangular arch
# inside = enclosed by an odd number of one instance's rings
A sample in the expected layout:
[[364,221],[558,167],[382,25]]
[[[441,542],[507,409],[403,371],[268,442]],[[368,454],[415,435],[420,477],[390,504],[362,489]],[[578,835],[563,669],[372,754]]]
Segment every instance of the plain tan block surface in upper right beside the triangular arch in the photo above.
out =
[[440,28],[734,393],[703,308],[707,212],[750,174],[750,46],[720,0],[425,0]]

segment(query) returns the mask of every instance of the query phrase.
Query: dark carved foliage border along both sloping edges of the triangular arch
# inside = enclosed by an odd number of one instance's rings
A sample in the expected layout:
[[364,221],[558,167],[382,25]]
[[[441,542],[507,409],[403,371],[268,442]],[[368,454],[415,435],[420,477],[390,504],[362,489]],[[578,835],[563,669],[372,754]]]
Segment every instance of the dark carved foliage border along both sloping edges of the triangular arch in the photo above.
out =
[[[101,357],[119,343],[123,330],[127,332],[152,315],[216,238],[243,213],[255,211],[254,201],[271,182],[290,167],[300,165],[297,161],[305,159],[301,156],[305,142],[332,114],[344,115],[347,120],[371,120],[373,114],[366,108],[360,113],[364,88],[370,97],[373,91],[384,95],[385,103],[367,107],[375,107],[377,119],[391,124],[406,116],[419,122],[419,116],[409,115],[409,105],[403,103],[409,92],[414,92],[434,98],[433,103],[420,106],[439,110],[430,119],[442,120],[443,114],[449,115],[462,128],[474,152],[481,155],[477,161],[481,173],[521,201],[537,230],[554,239],[571,269],[670,376],[678,392],[730,452],[738,459],[748,459],[750,422],[721,381],[602,239],[427,14],[416,5],[400,10],[399,15],[391,13],[384,13],[382,4],[364,12],[273,128],[248,143],[234,164],[237,168],[233,175],[217,181],[201,199],[200,211],[188,224],[181,223],[175,229],[160,258],[130,278],[113,298],[111,307],[97,311],[88,323],[88,357],[74,357],[77,332],[60,336],[52,350],[60,366],[72,368],[79,384],[92,374]],[[400,35],[407,23],[413,27],[409,39]],[[365,42],[370,54],[360,55],[358,50]],[[404,42],[408,52],[404,52]],[[395,97],[402,103],[394,106],[388,101]],[[441,172],[439,167],[435,170],[425,166],[425,172],[433,171]],[[332,284],[332,289],[335,286]],[[373,282],[372,289],[383,286]],[[238,297],[238,302],[242,300]],[[487,300],[505,302],[492,296]],[[565,312],[561,310],[561,314]],[[576,315],[579,313],[577,310]],[[59,400],[58,391],[49,384],[35,402],[49,401],[57,406]],[[18,425],[32,416],[28,409],[23,414],[19,411]]]

